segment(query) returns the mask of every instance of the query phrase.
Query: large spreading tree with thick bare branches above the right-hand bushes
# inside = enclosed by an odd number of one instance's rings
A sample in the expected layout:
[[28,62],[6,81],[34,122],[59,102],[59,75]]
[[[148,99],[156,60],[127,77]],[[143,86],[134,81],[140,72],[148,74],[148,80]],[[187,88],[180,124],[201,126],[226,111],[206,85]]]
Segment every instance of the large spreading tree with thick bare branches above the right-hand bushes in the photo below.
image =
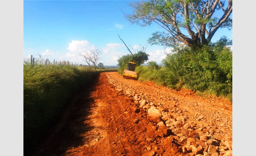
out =
[[[149,0],[130,4],[134,12],[125,14],[131,23],[140,26],[153,22],[164,28],[148,39],[150,44],[189,47],[207,45],[219,28],[232,28],[232,0]],[[222,10],[220,18],[214,17],[216,10]],[[185,32],[186,31],[186,32]]]

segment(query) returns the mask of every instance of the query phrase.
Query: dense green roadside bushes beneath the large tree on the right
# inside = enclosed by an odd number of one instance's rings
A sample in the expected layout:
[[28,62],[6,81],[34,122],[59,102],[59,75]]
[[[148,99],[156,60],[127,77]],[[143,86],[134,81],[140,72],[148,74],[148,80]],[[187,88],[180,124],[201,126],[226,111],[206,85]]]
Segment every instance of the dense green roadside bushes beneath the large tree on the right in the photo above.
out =
[[139,81],[153,81],[172,89],[192,89],[202,96],[216,95],[232,100],[232,40],[222,37],[202,48],[176,47],[162,60],[139,66]]

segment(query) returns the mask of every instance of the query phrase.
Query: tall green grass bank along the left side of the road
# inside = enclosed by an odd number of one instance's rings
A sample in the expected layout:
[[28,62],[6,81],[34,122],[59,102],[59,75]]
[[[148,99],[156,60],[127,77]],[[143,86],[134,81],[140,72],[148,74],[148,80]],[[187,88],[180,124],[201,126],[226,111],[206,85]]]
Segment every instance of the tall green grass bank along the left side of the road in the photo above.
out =
[[93,75],[117,69],[93,70],[67,65],[23,65],[24,152],[42,140],[72,93]]

